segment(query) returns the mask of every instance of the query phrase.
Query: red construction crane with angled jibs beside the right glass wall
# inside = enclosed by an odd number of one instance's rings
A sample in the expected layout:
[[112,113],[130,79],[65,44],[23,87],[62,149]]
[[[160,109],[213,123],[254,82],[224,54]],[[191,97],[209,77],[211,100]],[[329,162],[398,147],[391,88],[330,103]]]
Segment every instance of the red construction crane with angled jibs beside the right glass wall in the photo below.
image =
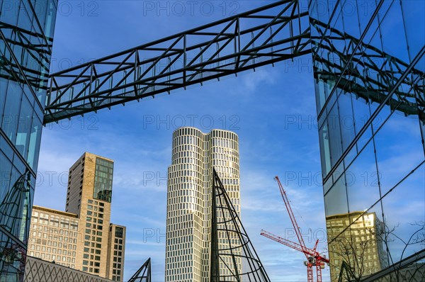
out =
[[305,254],[305,257],[307,258],[307,261],[304,262],[305,266],[307,266],[307,282],[313,282],[313,266],[316,266],[317,282],[322,282],[322,269],[324,268],[324,263],[329,264],[329,259],[327,259],[325,256],[322,256],[322,254],[316,251],[319,240],[316,241],[316,244],[314,245],[313,249],[309,249],[305,247],[305,243],[304,243],[304,239],[302,239],[300,227],[298,227],[297,220],[295,220],[295,215],[292,211],[292,208],[290,208],[289,199],[288,199],[288,196],[286,196],[285,189],[283,189],[282,184],[280,184],[278,176],[276,176],[275,179],[276,181],[278,181],[280,194],[282,195],[283,202],[285,203],[285,206],[286,206],[286,210],[288,210],[290,221],[293,224],[293,227],[295,229],[295,234],[297,235],[298,242],[300,243],[298,244],[288,239],[278,237],[264,230],[261,230],[261,235],[263,235],[264,237],[273,239],[276,242],[279,242],[280,244],[284,244],[285,246],[291,247]]

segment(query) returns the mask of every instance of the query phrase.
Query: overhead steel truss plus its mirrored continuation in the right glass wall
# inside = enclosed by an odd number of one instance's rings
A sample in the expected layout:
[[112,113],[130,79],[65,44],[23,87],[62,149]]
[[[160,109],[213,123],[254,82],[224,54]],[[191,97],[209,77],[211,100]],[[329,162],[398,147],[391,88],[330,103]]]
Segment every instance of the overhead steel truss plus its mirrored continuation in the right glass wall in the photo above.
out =
[[[331,38],[319,41],[329,30]],[[347,55],[335,42],[353,52]],[[312,52],[311,47],[329,51],[314,55],[315,62],[322,64],[314,66],[316,78],[335,81],[343,91],[380,103],[409,64],[360,42],[314,18],[309,22],[308,12],[300,11],[296,0],[277,1],[51,74],[44,123],[294,59]],[[358,43],[361,47],[356,49]],[[344,72],[351,57],[356,64],[351,63]],[[343,73],[346,75],[341,76]],[[387,103],[405,115],[419,114],[425,120],[424,113],[417,111],[415,98],[415,93],[424,91],[418,82],[421,77],[424,72],[414,70]],[[425,105],[424,101],[418,103]]]

